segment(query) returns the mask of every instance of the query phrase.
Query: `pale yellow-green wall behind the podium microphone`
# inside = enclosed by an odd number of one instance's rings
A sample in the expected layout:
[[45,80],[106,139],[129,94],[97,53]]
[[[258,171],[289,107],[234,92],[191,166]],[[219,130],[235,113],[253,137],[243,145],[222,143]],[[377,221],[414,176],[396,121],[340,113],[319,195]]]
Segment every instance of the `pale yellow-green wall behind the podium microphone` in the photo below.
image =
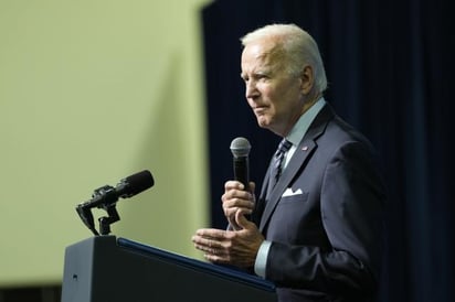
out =
[[60,282],[92,236],[75,205],[144,169],[156,184],[117,204],[113,234],[199,257],[207,2],[0,0],[0,287]]

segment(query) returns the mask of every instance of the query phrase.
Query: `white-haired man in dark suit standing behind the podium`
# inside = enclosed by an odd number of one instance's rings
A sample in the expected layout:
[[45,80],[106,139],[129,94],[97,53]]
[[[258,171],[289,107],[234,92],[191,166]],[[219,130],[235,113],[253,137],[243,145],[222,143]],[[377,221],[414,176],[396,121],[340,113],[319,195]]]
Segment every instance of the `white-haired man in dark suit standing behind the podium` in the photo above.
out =
[[283,302],[373,301],[385,188],[371,143],[325,100],[322,60],[307,32],[273,24],[242,44],[246,100],[283,141],[257,198],[254,182],[225,183],[229,227],[198,229],[195,248],[274,282]]

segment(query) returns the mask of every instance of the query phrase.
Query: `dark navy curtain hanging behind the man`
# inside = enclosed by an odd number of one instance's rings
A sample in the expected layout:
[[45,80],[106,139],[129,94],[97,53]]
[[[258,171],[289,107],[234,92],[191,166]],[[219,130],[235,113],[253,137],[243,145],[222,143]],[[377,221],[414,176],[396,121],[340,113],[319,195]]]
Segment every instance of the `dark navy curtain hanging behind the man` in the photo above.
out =
[[326,99],[381,155],[389,202],[380,301],[453,301],[451,11],[441,0],[219,0],[204,8],[212,225],[225,227],[220,197],[233,175],[232,139],[252,144],[256,192],[279,140],[247,106],[239,39],[268,23],[296,23],[319,44]]

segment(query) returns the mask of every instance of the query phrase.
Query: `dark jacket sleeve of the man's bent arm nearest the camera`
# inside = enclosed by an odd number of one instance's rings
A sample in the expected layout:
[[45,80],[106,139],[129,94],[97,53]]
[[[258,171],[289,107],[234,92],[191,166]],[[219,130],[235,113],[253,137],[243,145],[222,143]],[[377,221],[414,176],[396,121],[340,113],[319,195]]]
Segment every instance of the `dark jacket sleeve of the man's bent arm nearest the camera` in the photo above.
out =
[[364,143],[349,142],[322,169],[320,217],[330,248],[273,242],[266,278],[282,287],[372,293],[378,287],[385,196],[372,152]]

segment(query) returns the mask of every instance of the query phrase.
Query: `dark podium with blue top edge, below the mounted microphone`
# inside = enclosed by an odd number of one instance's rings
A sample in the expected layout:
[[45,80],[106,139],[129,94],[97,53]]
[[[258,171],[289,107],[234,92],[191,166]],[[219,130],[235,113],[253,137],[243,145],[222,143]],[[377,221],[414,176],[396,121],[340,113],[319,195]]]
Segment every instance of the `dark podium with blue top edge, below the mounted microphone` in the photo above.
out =
[[276,302],[261,278],[115,236],[65,250],[62,302]]

